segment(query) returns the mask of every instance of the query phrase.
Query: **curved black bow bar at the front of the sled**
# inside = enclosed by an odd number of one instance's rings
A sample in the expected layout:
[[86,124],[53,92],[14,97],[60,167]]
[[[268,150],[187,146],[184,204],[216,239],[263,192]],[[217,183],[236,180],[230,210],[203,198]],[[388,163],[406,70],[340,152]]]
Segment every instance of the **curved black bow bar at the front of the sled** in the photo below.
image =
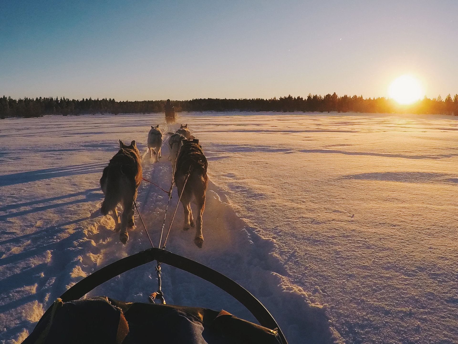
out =
[[209,268],[208,266],[158,248],[151,248],[136,253],[135,255],[130,255],[120,259],[119,261],[115,261],[96,272],[93,272],[91,275],[83,278],[81,281],[73,285],[64,294],[60,295],[60,298],[63,302],[78,300],[92,289],[109,281],[111,278],[151,261],[158,261],[160,263],[174,266],[180,270],[192,273],[197,277],[201,277],[208,282],[213,283],[218,288],[223,289],[226,293],[233,296],[242,305],[244,305],[262,326],[270,329],[277,328],[278,335],[281,338],[282,343],[288,344],[282,330],[278,326],[278,323],[269,311],[267,311],[266,307],[264,307],[259,300],[257,300],[240,284],[234,282],[229,277],[224,276],[222,273]]

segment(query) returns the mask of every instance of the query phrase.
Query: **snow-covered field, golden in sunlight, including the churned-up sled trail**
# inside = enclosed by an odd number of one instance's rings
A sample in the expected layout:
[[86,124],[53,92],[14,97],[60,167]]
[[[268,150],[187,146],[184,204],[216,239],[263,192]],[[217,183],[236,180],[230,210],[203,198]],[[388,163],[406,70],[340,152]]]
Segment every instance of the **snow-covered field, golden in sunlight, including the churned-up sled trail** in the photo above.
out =
[[[167,249],[211,266],[259,298],[294,343],[458,343],[458,122],[446,116],[180,114],[207,155],[204,247],[183,232]],[[117,140],[141,152],[155,115],[0,122],[0,341],[21,341],[65,289],[148,248],[100,216],[98,179]],[[168,150],[143,176],[169,188]],[[176,189],[172,209],[178,197]],[[157,244],[166,195],[137,199]],[[226,309],[230,296],[163,267],[168,303]],[[91,295],[147,302],[154,265]],[[88,295],[88,296],[91,296]],[[324,305],[324,306],[323,306]]]

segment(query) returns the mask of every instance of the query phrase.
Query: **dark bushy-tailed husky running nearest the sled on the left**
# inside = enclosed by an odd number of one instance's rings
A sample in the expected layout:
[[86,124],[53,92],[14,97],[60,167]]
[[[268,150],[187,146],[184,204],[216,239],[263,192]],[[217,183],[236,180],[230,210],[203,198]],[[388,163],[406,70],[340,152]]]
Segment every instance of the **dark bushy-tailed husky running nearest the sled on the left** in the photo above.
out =
[[[125,244],[129,239],[127,226],[135,226],[134,202],[137,198],[137,188],[142,181],[142,166],[135,141],[126,146],[119,140],[119,145],[120,150],[111,158],[100,178],[100,186],[105,194],[100,211],[104,215],[107,215],[110,210],[113,211],[116,231],[121,231],[119,239]],[[121,221],[116,211],[118,203],[123,206]]]

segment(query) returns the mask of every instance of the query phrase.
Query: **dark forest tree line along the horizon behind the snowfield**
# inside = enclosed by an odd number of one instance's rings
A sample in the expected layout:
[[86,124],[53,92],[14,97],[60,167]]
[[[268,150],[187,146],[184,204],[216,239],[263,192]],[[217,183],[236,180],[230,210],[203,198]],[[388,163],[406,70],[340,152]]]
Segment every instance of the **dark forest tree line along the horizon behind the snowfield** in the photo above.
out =
[[[165,100],[116,101],[114,99],[69,98],[0,98],[0,118],[5,117],[40,117],[43,115],[80,115],[95,113],[153,113],[164,112]],[[383,97],[367,98],[363,96],[339,97],[335,92],[325,96],[309,94],[306,98],[287,97],[262,99],[193,99],[173,100],[175,112],[180,111],[320,111],[320,112],[369,112],[369,113],[418,113],[444,114],[458,116],[458,94],[445,99],[439,95],[429,99],[425,97],[411,105],[399,105]]]

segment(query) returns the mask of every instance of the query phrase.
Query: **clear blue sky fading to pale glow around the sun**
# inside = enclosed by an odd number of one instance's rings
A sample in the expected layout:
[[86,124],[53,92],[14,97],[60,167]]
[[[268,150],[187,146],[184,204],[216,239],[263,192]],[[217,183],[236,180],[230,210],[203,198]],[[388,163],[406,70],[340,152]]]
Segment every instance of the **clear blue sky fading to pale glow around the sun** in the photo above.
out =
[[0,96],[458,93],[458,1],[0,0]]

